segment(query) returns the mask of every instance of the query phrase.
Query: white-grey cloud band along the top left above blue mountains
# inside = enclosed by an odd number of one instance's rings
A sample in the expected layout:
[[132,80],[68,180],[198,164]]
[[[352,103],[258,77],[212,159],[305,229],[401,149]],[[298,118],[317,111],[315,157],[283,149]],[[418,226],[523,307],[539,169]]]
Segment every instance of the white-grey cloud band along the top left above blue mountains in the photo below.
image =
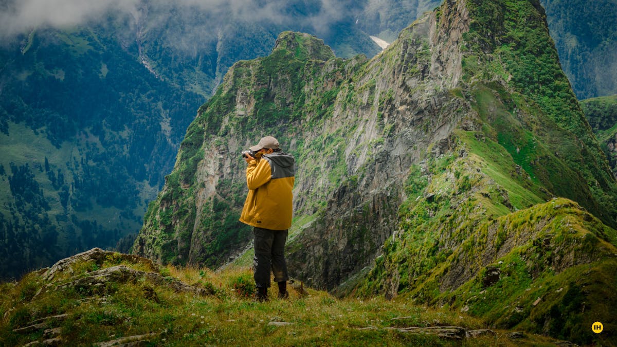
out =
[[[27,33],[33,28],[72,27],[96,21],[107,14],[131,14],[154,9],[159,15],[201,10],[210,18],[275,25],[302,25],[319,32],[349,15],[351,0],[0,0],[0,38]],[[160,9],[175,9],[162,12]],[[191,17],[191,16],[189,16]],[[194,16],[193,16],[194,17]]]

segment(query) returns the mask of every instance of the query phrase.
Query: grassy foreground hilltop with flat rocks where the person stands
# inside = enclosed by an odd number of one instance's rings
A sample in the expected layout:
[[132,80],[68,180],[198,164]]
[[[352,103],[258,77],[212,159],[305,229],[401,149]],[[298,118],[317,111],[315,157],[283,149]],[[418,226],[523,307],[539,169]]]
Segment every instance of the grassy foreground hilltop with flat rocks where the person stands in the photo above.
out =
[[92,249],[0,286],[2,345],[551,346],[466,314],[383,298],[337,299],[292,283],[289,299],[251,298],[247,268],[157,267]]

